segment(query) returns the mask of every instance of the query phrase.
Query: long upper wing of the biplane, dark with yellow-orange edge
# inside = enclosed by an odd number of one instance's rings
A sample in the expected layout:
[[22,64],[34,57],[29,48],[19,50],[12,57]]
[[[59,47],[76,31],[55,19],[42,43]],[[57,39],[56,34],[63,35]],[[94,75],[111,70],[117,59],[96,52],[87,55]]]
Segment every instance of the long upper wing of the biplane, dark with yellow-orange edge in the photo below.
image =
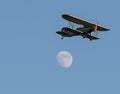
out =
[[[71,16],[71,15],[67,15],[67,14],[63,14],[62,18],[64,18],[65,20],[71,21],[73,23],[76,23],[76,24],[82,24],[85,27],[96,25],[96,24],[89,22],[87,20],[79,19],[79,18],[76,18],[76,17]],[[98,31],[108,31],[109,29],[106,27],[97,25],[97,30]]]

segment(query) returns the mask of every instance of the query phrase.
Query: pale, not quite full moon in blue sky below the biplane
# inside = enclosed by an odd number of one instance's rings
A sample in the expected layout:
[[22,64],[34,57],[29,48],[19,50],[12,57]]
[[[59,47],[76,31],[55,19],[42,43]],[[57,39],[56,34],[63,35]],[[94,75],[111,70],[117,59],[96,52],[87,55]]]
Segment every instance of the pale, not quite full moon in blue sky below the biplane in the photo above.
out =
[[68,51],[60,51],[57,54],[57,61],[60,66],[69,68],[72,65],[73,58]]

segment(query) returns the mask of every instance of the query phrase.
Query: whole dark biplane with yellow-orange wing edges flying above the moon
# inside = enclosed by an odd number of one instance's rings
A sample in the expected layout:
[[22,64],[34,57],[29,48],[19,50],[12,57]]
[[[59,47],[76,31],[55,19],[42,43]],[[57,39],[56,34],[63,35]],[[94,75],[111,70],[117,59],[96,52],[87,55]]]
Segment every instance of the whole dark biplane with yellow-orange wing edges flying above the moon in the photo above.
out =
[[[56,33],[61,35],[63,39],[64,37],[72,37],[72,36],[82,36],[83,38],[88,38],[90,40],[97,40],[99,39],[95,35],[92,35],[92,32],[98,31],[109,31],[110,29],[100,26],[98,24],[94,24],[87,20],[76,18],[74,16],[63,14],[62,18],[72,23],[69,27],[63,27],[61,31],[57,31]],[[78,28],[74,28],[73,24],[78,24]]]

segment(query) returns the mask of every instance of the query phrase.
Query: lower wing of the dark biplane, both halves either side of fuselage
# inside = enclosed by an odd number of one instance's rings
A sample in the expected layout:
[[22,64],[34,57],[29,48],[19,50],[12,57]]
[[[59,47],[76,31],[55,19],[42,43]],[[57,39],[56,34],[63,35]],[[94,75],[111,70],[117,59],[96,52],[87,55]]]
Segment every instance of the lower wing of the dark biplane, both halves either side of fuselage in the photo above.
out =
[[[84,35],[82,31],[80,31],[80,30],[75,30],[75,29],[72,29],[72,28],[69,28],[69,27],[65,27],[65,30],[66,30],[66,31],[73,32],[73,33],[76,33],[76,34],[79,34],[79,35],[81,35],[81,36]],[[90,40],[97,40],[97,39],[99,39],[98,37],[91,36],[91,35],[87,35],[86,38],[89,38]]]

